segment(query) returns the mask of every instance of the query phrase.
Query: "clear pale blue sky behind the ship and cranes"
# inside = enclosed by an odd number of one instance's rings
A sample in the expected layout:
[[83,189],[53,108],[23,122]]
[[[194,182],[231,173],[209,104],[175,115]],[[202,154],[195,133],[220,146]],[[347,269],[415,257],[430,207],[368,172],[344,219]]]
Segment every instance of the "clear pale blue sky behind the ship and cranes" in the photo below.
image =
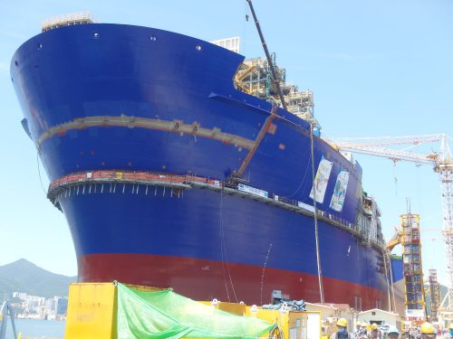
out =
[[[287,80],[313,89],[315,115],[330,137],[447,133],[453,136],[453,3],[449,0],[255,0],[266,42]],[[25,258],[76,275],[63,214],[45,198],[34,145],[9,76],[14,51],[43,20],[89,10],[102,23],[138,24],[204,40],[241,37],[246,57],[263,56],[246,0],[2,1],[0,5],[0,265]],[[433,146],[439,149],[439,146]],[[429,148],[428,148],[429,149]],[[423,150],[423,149],[421,149]],[[439,177],[427,166],[356,155],[364,189],[381,206],[387,239],[406,212],[441,228]],[[395,175],[397,184],[395,184]],[[425,233],[424,268],[445,280],[439,232]]]

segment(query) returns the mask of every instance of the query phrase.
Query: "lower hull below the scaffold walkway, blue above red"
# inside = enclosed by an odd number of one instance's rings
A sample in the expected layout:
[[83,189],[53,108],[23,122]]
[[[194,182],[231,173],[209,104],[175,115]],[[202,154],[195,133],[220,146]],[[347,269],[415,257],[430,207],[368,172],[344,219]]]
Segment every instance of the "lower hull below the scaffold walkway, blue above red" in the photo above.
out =
[[[215,190],[101,186],[79,193],[73,186],[59,199],[82,281],[174,287],[197,299],[268,303],[280,290],[320,301],[313,217]],[[318,225],[325,301],[354,306],[361,297],[362,307],[384,306],[380,252],[348,231]]]

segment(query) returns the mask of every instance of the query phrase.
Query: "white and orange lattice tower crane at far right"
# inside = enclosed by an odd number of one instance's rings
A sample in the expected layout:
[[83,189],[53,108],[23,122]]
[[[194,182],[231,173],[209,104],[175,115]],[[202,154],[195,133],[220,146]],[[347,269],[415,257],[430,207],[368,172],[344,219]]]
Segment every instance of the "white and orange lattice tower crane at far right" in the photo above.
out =
[[[453,312],[453,159],[448,139],[446,134],[404,137],[323,137],[324,141],[343,152],[386,157],[395,163],[409,161],[419,165],[432,165],[434,172],[439,174],[442,194],[442,233],[446,244],[448,276],[447,310],[451,313]],[[420,154],[408,150],[412,146],[434,142],[440,142],[439,152]],[[410,147],[403,150],[388,147],[395,145],[410,145]]]

